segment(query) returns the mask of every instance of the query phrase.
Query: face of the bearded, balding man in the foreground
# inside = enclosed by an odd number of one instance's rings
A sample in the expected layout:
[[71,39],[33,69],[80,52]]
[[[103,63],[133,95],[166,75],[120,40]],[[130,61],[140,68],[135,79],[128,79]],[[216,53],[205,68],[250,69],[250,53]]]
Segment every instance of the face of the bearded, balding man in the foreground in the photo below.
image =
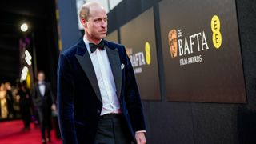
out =
[[107,16],[101,6],[90,7],[90,15],[86,22],[87,37],[90,40],[98,41],[106,38]]

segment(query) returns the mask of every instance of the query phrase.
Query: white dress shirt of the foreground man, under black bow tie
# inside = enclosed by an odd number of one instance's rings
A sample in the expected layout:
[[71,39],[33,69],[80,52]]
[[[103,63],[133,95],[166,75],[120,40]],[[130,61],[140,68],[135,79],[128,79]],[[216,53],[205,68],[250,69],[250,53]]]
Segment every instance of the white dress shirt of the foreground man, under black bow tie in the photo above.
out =
[[93,63],[94,72],[96,74],[99,90],[102,96],[103,106],[101,115],[121,113],[117,89],[114,83],[114,76],[106,50],[97,49],[94,53],[91,53],[89,47],[90,42],[86,38],[83,38],[83,41],[85,42],[86,48],[90,54],[90,60]]

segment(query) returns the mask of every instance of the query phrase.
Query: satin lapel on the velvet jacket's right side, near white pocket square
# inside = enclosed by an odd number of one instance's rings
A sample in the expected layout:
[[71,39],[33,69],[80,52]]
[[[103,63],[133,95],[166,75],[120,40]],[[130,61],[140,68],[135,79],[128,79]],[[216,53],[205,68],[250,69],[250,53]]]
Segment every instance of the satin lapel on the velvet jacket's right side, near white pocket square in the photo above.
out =
[[110,49],[106,46],[106,53],[110,61],[110,66],[112,70],[112,74],[114,76],[114,82],[117,89],[118,98],[120,98],[121,94],[121,86],[122,86],[122,70],[121,70],[121,62],[119,58],[118,49]]

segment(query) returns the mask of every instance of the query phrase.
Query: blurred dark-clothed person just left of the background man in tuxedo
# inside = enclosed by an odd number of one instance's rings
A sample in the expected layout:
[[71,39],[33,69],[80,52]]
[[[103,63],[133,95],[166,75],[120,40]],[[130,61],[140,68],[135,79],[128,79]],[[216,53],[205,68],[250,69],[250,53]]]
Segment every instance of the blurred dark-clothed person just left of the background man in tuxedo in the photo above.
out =
[[31,122],[31,98],[30,98],[30,90],[26,88],[25,83],[18,84],[18,98],[19,98],[19,110],[22,114],[22,120],[24,123],[24,128],[22,131],[30,130],[30,122]]

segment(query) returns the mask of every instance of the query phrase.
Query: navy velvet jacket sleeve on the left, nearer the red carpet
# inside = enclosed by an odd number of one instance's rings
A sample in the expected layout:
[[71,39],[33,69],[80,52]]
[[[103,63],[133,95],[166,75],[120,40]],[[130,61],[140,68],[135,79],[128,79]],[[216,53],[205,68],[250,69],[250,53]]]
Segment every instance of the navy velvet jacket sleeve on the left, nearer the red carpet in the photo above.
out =
[[63,144],[77,144],[74,127],[74,76],[70,61],[64,54],[58,60],[58,122]]

